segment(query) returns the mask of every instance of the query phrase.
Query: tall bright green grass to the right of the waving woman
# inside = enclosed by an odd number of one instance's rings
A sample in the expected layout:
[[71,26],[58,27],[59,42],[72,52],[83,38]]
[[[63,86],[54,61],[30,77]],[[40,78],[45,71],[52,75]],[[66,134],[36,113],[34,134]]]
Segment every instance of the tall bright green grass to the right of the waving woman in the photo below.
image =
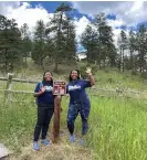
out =
[[87,145],[97,160],[145,160],[146,102],[92,98]]

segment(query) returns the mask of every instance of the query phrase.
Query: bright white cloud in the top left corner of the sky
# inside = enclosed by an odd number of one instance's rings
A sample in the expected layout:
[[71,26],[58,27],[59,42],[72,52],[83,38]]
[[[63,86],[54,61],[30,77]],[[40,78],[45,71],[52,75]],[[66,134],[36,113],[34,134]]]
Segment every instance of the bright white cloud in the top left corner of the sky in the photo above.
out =
[[31,32],[38,20],[42,19],[46,23],[49,18],[53,17],[53,13],[49,13],[42,6],[32,8],[29,2],[0,2],[1,8],[3,9],[0,13],[8,19],[15,19],[19,28],[28,23]]

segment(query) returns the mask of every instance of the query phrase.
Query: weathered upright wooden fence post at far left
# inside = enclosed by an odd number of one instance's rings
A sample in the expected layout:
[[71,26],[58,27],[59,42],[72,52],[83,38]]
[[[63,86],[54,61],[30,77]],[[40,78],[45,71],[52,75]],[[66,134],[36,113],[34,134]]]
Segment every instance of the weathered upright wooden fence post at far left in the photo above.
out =
[[7,92],[4,93],[4,103],[6,103],[6,99],[9,99],[11,100],[11,94],[9,93],[9,90],[12,89],[12,77],[13,77],[13,74],[11,73],[8,73],[8,79],[7,79]]

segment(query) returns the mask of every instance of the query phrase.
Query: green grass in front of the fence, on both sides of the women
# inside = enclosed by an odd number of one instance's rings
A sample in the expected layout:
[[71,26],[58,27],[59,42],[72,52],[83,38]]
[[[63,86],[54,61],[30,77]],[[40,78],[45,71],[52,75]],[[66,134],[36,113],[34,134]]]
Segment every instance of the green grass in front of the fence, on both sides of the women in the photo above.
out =
[[[91,96],[90,131],[86,146],[95,160],[146,160],[146,102]],[[61,128],[66,129],[67,98],[63,98]],[[19,151],[32,141],[36,121],[34,104],[0,106],[1,142]],[[75,121],[81,134],[81,119]]]

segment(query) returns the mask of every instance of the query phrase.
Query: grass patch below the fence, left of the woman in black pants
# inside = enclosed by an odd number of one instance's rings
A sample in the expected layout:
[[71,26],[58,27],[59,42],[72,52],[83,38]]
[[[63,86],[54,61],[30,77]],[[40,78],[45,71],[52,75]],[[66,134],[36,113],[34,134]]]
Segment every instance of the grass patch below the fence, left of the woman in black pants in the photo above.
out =
[[0,139],[12,150],[27,145],[34,127],[35,107],[33,104],[11,104],[0,106]]

